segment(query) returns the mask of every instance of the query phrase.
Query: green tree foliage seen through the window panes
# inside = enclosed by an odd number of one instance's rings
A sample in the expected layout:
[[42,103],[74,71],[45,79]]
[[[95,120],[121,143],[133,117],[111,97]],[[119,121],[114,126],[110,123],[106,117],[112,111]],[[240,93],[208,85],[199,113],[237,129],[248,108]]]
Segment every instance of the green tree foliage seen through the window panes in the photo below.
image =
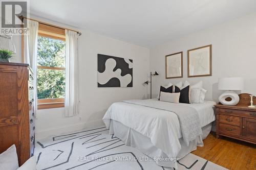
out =
[[[65,67],[65,47],[65,41],[39,36],[38,65]],[[65,70],[37,69],[37,98],[65,98],[65,77]]]

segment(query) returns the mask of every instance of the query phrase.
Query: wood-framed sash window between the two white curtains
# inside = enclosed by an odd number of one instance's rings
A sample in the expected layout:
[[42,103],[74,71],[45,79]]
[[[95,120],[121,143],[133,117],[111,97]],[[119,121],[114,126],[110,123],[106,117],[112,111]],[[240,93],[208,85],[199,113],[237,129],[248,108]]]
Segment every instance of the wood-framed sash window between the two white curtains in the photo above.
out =
[[39,23],[37,44],[37,107],[64,107],[65,30]]

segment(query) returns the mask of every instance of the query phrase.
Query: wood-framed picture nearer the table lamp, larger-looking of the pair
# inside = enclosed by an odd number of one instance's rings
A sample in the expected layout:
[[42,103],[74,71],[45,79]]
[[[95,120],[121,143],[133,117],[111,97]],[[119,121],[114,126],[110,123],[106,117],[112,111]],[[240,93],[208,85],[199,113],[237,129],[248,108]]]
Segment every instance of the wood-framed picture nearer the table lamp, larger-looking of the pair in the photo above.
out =
[[187,51],[187,77],[211,76],[211,44]]

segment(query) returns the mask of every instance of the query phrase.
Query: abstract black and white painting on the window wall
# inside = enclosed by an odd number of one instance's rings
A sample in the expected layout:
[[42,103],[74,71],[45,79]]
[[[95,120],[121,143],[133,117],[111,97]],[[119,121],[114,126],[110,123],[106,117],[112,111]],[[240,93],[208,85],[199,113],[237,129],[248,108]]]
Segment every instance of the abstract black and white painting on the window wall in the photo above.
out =
[[98,54],[98,87],[133,87],[133,60]]

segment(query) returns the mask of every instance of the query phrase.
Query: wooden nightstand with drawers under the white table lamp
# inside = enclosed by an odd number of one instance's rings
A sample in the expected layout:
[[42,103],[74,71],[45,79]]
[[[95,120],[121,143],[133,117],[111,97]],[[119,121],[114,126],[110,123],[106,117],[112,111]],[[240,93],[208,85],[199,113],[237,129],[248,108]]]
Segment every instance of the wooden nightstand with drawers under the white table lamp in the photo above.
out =
[[[239,94],[236,106],[215,105],[217,138],[227,136],[256,144],[256,108],[249,108],[250,94]],[[253,98],[254,104],[256,98]]]

